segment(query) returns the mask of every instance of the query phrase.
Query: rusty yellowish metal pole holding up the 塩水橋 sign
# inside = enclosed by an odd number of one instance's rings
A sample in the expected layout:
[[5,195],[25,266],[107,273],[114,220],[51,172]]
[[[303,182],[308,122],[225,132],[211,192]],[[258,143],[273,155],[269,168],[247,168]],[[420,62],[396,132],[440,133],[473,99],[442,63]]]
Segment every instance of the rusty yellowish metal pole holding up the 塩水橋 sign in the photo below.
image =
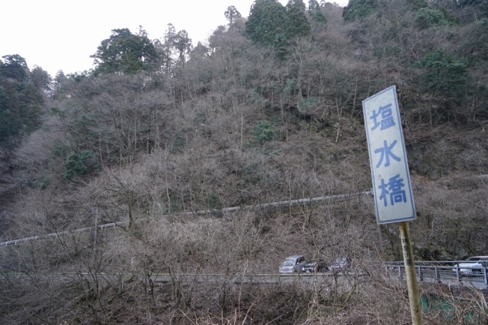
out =
[[413,260],[413,248],[410,240],[409,225],[406,221],[399,222],[400,239],[402,240],[403,260],[406,273],[406,287],[409,289],[410,312],[412,325],[422,325],[422,309],[420,308],[420,296],[418,295],[417,277],[415,276],[415,262]]

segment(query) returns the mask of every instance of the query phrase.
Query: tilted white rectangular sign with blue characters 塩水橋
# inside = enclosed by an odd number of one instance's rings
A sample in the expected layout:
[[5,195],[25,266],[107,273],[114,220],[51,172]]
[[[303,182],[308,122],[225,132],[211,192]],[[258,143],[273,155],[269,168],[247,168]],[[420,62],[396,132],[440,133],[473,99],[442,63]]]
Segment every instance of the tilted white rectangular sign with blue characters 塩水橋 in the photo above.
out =
[[391,86],[363,100],[376,221],[415,220],[397,92]]

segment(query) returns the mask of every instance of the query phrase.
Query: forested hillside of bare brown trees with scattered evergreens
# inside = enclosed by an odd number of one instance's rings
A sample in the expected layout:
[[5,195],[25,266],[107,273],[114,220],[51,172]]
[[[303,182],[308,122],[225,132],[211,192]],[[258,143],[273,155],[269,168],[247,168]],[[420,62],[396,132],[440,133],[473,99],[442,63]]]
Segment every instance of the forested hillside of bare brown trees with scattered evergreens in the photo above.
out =
[[[223,14],[195,47],[171,24],[154,40],[114,29],[83,73],[3,56],[1,241],[125,223],[0,248],[1,324],[406,324],[406,289],[378,266],[402,259],[397,226],[376,225],[370,196],[259,209],[368,191],[362,101],[392,85],[415,256],[488,255],[487,1],[256,0],[249,17]],[[296,254],[350,256],[361,272],[348,286],[231,280]],[[174,280],[151,280],[163,272]]]

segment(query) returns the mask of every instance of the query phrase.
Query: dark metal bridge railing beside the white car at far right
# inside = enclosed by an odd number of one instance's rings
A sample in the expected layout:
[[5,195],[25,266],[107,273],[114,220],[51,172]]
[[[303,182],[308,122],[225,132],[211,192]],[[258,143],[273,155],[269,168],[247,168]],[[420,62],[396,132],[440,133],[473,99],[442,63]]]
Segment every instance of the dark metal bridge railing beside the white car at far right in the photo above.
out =
[[[436,282],[471,282],[472,284],[488,286],[488,268],[482,266],[462,266],[466,261],[415,261],[415,273],[418,280],[434,280]],[[404,278],[404,262],[386,262],[386,274]]]

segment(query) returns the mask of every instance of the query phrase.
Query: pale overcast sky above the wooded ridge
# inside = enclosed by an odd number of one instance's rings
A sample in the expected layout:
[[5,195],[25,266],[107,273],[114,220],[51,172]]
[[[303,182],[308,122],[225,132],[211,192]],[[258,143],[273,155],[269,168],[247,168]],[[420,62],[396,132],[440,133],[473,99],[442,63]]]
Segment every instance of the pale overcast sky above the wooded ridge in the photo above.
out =
[[[9,0],[1,4],[0,56],[19,54],[29,68],[42,67],[54,77],[93,67],[90,55],[112,29],[136,33],[142,25],[153,40],[162,38],[167,24],[188,31],[193,44],[227,24],[228,6],[247,17],[254,0]],[[287,0],[280,0],[286,4]],[[304,0],[307,4],[308,0]],[[319,1],[320,2],[320,1]],[[330,1],[333,2],[333,1]],[[335,0],[346,6],[348,0]]]

